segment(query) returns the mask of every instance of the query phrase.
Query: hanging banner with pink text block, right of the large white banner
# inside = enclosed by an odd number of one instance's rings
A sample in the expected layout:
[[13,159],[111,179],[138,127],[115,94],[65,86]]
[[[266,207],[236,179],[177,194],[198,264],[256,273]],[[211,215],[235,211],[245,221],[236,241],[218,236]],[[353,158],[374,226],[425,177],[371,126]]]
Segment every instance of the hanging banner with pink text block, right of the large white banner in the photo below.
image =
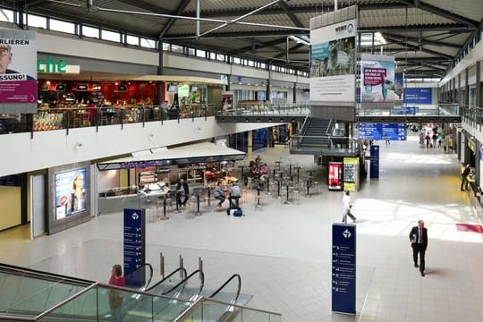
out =
[[394,107],[394,57],[360,56],[360,105],[363,108]]

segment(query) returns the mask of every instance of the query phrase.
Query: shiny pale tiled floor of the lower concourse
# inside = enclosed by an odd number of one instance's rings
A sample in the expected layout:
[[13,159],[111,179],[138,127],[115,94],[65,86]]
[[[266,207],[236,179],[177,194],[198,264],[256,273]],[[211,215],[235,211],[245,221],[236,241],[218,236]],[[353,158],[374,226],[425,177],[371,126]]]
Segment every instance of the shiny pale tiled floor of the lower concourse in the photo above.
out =
[[[411,135],[411,134],[410,134]],[[380,178],[363,180],[352,194],[358,217],[357,315],[331,313],[331,225],[340,221],[342,192],[326,191],[284,205],[263,194],[265,206],[148,224],[148,262],[166,270],[182,254],[189,271],[203,259],[208,288],[242,275],[249,306],[283,314],[284,321],[481,321],[483,234],[456,223],[480,224],[470,193],[460,191],[460,165],[442,149],[419,148],[417,138],[381,144]],[[260,153],[269,164],[302,165],[313,157],[277,147]],[[254,158],[252,156],[250,158]],[[248,161],[246,161],[248,163]],[[412,266],[408,234],[422,218],[428,227],[427,275]],[[106,282],[122,262],[121,214],[30,241],[25,228],[0,233],[0,260]],[[157,277],[158,278],[158,277]]]

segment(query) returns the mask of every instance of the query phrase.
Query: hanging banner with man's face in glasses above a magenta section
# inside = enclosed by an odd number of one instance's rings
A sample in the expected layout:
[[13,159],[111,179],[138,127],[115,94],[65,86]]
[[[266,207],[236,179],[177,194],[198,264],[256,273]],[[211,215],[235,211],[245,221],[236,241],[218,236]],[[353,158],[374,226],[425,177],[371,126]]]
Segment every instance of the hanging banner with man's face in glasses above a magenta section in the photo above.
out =
[[0,113],[37,113],[35,32],[0,29]]

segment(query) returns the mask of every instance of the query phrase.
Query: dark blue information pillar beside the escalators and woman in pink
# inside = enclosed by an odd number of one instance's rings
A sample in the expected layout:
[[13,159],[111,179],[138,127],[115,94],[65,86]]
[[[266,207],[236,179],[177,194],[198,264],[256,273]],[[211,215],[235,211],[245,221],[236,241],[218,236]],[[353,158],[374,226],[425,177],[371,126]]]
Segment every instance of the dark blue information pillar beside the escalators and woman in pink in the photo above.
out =
[[[124,208],[124,276],[126,286],[144,285],[140,268],[146,262],[145,209]],[[133,274],[133,272],[135,272]]]

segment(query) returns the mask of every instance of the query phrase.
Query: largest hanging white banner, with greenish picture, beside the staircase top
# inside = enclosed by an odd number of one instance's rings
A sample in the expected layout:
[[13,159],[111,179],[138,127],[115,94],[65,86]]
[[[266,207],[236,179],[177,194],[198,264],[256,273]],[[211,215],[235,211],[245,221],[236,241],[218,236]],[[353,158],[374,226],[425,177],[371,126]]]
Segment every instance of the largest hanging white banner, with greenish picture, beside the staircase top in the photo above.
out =
[[357,19],[310,30],[310,105],[354,106],[356,35]]

